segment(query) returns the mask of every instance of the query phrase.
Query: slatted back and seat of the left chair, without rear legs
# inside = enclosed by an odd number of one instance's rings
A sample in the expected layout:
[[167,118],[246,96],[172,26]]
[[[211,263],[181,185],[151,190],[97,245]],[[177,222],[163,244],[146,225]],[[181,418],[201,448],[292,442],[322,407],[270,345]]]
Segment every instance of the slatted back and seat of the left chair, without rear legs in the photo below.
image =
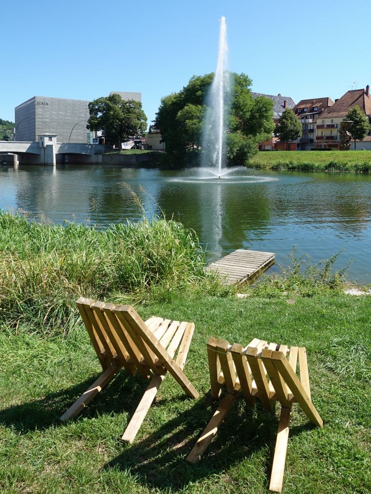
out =
[[[130,305],[84,297],[76,304],[103,370],[116,364],[131,374],[139,371],[145,378],[151,372],[162,375],[169,371],[187,394],[198,396],[183,373],[193,323],[155,317],[144,322]],[[173,357],[177,350],[176,363]]]

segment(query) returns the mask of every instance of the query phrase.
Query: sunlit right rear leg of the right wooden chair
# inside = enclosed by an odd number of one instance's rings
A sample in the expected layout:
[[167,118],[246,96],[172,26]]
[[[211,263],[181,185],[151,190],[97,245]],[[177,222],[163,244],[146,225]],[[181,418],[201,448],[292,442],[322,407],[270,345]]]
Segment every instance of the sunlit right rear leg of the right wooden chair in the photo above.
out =
[[275,493],[282,491],[283,472],[286,461],[288,431],[290,425],[291,407],[282,407],[278,422],[275,455],[273,457],[271,482],[269,490]]

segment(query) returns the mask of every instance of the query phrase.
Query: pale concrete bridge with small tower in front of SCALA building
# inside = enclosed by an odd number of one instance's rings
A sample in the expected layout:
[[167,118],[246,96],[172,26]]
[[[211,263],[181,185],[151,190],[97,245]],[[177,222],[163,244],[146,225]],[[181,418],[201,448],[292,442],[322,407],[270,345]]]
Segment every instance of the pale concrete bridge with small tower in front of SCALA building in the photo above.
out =
[[14,165],[19,161],[30,165],[56,165],[68,161],[69,156],[79,155],[84,163],[97,163],[98,156],[109,149],[110,146],[100,144],[56,143],[41,147],[39,142],[0,141],[0,154],[12,154]]

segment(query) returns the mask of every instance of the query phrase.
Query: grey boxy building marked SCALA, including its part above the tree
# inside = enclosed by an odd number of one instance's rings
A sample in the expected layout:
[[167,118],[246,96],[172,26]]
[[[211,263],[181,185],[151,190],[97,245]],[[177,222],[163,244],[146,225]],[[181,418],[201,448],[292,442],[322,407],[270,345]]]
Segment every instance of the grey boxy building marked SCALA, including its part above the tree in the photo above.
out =
[[[127,99],[141,101],[141,93],[119,92]],[[15,140],[38,140],[40,134],[56,134],[57,142],[87,143],[89,101],[34,96],[18,105],[15,112]]]

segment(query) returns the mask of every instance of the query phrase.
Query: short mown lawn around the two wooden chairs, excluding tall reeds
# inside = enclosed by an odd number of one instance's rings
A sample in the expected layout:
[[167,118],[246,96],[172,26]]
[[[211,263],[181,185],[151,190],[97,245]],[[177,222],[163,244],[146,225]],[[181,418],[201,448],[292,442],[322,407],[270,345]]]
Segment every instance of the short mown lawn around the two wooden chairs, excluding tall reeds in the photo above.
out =
[[77,419],[62,424],[58,417],[99,373],[86,330],[44,337],[3,324],[1,493],[269,492],[279,405],[273,414],[237,400],[201,462],[185,461],[217,407],[208,393],[210,335],[307,348],[312,398],[324,428],[293,406],[283,493],[371,492],[370,297],[324,291],[291,305],[284,295],[237,299],[163,291],[137,310],[143,318],[194,321],[185,373],[200,399],[188,399],[167,376],[135,443],[123,444],[119,438],[146,383],[121,371]]

